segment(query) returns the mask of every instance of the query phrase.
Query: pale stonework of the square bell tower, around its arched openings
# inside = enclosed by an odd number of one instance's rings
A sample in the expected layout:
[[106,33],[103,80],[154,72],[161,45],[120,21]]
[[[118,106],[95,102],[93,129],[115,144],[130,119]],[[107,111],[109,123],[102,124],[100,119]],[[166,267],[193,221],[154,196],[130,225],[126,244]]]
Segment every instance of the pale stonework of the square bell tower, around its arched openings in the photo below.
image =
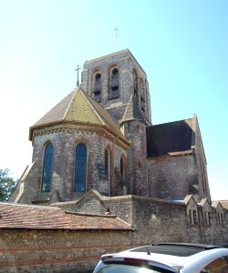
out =
[[[109,99],[110,86],[110,69],[116,66],[119,69],[119,97]],[[140,67],[134,56],[131,55],[128,49],[122,50],[109,56],[104,56],[90,60],[84,64],[81,75],[81,88],[90,96],[93,96],[94,74],[99,72],[101,74],[101,105],[109,109],[109,113],[113,112],[117,120],[121,118],[122,110],[116,111],[116,106],[127,105],[130,96],[134,94],[134,71],[137,73],[137,84],[140,93],[140,81],[143,82],[143,92],[145,92],[145,99],[150,101],[149,86],[147,83],[147,76]],[[141,106],[140,94],[138,97],[138,104]],[[146,103],[146,117],[150,120],[150,104]]]

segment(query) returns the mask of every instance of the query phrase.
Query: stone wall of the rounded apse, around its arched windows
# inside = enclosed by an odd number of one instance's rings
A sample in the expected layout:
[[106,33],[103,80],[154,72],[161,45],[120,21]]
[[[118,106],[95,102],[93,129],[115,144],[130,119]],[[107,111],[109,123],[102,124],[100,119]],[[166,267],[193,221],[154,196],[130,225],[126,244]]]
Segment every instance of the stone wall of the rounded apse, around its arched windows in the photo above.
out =
[[[54,145],[53,158],[53,183],[50,193],[41,193],[44,147],[47,142]],[[98,176],[98,164],[105,164],[105,149],[110,150],[110,180],[105,180],[108,185],[109,195],[115,195],[115,170],[120,169],[120,157],[127,157],[125,148],[119,147],[117,141],[109,132],[92,126],[67,126],[62,130],[53,128],[53,133],[42,133],[35,136],[33,141],[34,166],[26,175],[26,188],[20,198],[21,203],[31,203],[32,200],[49,197],[50,202],[57,202],[56,191],[63,200],[78,198],[81,195],[73,190],[75,147],[78,142],[83,142],[88,147],[87,191],[96,188],[103,192]],[[94,164],[96,163],[96,164]],[[35,175],[36,174],[36,175]],[[121,186],[123,187],[123,186]],[[123,192],[123,189],[121,193]]]

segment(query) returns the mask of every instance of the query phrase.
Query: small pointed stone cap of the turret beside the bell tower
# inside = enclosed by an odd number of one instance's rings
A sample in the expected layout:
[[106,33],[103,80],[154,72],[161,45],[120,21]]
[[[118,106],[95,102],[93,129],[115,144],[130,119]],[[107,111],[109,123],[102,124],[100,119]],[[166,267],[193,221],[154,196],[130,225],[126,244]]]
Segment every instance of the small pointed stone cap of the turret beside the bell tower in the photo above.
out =
[[123,114],[123,118],[121,121],[127,121],[127,120],[132,120],[132,119],[138,119],[141,121],[145,121],[144,117],[142,116],[142,114],[140,112],[140,108],[137,105],[136,100],[131,95],[128,106],[125,109],[125,112]]

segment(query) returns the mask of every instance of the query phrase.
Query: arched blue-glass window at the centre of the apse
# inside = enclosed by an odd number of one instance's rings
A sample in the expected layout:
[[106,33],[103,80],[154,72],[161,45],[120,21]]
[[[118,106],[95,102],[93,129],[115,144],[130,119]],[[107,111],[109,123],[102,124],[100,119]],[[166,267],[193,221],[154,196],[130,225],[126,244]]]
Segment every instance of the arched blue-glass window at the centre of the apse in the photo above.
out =
[[79,143],[75,152],[75,179],[74,190],[86,192],[87,181],[87,146]]

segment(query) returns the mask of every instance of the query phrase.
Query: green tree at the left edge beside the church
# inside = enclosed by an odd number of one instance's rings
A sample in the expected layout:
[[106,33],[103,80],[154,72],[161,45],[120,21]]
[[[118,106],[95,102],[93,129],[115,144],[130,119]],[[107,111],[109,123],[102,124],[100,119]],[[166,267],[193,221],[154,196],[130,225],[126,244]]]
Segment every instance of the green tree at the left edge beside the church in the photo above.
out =
[[0,201],[5,202],[10,197],[13,189],[16,186],[16,180],[11,177],[8,168],[0,168]]

